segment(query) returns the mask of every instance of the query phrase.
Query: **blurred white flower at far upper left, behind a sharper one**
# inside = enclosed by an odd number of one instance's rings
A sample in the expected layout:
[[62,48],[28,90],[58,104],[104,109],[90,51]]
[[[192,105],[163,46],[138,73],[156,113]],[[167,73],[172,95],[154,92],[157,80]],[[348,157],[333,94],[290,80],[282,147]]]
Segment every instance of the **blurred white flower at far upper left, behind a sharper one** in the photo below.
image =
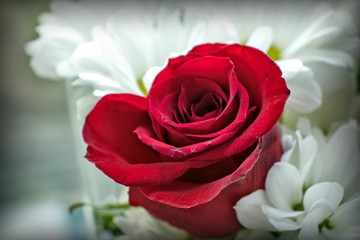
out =
[[111,2],[52,1],[50,11],[39,16],[39,37],[25,47],[34,72],[48,79],[73,77],[66,61],[79,44],[92,39],[92,28],[103,25],[112,12]]

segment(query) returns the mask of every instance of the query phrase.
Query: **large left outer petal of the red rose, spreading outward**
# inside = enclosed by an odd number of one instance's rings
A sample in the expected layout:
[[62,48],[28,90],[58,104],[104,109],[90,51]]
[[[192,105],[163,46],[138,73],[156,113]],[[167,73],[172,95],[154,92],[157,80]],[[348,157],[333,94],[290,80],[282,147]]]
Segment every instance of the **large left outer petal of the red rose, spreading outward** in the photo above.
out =
[[150,121],[146,105],[145,98],[136,95],[110,94],[96,104],[85,121],[86,157],[124,185],[167,184],[189,169],[186,162],[159,161],[159,153],[137,138],[136,127]]

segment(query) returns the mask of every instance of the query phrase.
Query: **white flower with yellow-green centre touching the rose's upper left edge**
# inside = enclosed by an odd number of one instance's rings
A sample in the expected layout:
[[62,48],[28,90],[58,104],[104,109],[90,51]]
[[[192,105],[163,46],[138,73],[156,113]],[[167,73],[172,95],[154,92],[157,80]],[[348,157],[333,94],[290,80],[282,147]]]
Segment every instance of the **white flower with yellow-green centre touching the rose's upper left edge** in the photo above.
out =
[[105,27],[93,29],[94,40],[80,44],[69,59],[79,78],[75,85],[90,85],[99,96],[146,93],[159,66],[186,48],[188,36],[181,9],[150,3],[121,5]]

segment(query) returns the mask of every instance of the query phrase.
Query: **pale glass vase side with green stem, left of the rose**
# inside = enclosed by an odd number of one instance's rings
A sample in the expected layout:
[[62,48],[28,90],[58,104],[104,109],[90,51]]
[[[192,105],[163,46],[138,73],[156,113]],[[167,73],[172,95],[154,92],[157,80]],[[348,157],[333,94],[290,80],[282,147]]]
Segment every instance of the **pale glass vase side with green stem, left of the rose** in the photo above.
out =
[[88,239],[111,239],[121,235],[113,218],[128,207],[127,188],[107,177],[84,157],[86,144],[82,138],[82,127],[86,115],[97,101],[92,94],[93,89],[89,86],[76,86],[73,80],[68,79],[65,92],[75,158],[84,188],[83,199],[74,206],[83,206]]

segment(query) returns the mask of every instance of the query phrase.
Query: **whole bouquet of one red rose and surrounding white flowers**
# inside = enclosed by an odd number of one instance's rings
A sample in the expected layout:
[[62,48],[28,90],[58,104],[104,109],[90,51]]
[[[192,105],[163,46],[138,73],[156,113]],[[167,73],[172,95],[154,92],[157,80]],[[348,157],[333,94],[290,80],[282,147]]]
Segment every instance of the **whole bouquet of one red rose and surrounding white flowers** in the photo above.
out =
[[96,237],[358,239],[357,10],[53,1],[26,52],[66,81]]

